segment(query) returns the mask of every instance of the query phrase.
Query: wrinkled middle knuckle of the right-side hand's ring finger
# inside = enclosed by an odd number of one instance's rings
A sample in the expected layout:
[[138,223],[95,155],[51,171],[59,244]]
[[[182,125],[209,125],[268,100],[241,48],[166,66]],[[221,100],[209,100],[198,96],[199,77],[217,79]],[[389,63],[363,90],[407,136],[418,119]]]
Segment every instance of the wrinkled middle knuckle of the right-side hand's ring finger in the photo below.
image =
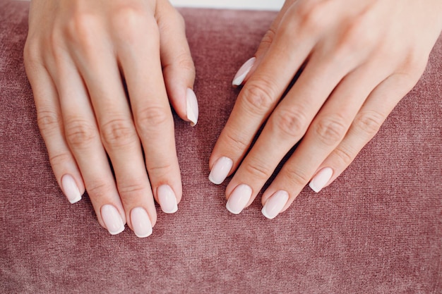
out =
[[347,132],[344,122],[345,120],[338,115],[326,116],[313,125],[313,130],[323,144],[333,146],[340,142]]

